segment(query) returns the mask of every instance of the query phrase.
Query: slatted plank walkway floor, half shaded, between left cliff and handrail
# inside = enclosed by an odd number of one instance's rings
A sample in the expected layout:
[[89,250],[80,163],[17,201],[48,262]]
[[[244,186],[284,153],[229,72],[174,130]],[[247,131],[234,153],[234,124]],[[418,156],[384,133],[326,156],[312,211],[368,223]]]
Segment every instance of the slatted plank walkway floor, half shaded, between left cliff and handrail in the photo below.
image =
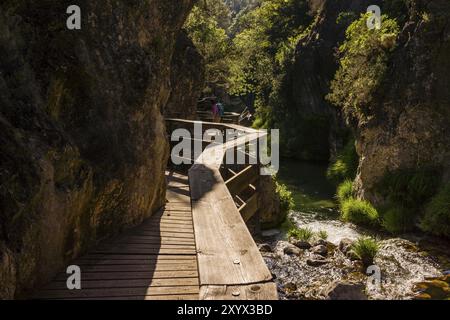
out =
[[164,211],[101,243],[75,261],[81,290],[68,290],[60,273],[37,299],[197,300],[199,275],[188,178],[166,172]]

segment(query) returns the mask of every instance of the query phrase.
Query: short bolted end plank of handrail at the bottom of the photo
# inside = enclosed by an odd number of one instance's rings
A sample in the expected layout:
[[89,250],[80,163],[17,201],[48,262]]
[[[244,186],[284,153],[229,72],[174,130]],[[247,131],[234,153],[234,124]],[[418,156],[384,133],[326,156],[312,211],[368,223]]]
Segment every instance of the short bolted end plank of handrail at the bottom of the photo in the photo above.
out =
[[201,300],[278,300],[277,286],[273,282],[241,286],[201,286]]

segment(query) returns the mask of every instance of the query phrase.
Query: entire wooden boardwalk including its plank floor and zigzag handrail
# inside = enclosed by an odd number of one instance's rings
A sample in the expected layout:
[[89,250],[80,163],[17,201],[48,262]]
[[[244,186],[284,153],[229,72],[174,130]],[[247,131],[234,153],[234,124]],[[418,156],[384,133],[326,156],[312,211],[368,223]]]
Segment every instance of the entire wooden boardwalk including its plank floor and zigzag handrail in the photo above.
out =
[[[195,131],[200,122],[167,119],[169,127]],[[81,289],[69,290],[65,272],[35,298],[94,300],[275,300],[277,288],[246,222],[257,217],[259,165],[231,166],[225,152],[246,153],[257,130],[201,122],[203,129],[238,129],[236,140],[206,148],[188,175],[167,171],[163,210],[121,236],[102,242],[71,263],[81,269]]]

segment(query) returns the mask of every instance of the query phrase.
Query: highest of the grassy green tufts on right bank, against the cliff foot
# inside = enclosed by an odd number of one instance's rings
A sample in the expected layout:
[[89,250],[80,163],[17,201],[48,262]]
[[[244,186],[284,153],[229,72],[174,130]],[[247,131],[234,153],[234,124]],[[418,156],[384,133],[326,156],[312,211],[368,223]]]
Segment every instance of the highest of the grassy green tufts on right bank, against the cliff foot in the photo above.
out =
[[327,177],[336,183],[346,179],[353,180],[356,177],[358,162],[359,158],[356,153],[355,141],[351,140],[338,154],[336,161],[329,166]]

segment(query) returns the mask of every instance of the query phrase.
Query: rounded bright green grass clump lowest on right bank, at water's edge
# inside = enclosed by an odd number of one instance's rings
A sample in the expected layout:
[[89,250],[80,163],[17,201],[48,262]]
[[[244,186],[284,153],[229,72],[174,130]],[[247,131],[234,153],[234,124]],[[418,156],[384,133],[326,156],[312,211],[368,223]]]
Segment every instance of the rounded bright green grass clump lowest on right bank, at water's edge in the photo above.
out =
[[344,221],[361,225],[374,225],[378,220],[378,211],[367,201],[350,198],[341,206]]

